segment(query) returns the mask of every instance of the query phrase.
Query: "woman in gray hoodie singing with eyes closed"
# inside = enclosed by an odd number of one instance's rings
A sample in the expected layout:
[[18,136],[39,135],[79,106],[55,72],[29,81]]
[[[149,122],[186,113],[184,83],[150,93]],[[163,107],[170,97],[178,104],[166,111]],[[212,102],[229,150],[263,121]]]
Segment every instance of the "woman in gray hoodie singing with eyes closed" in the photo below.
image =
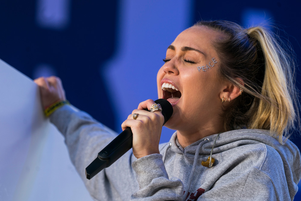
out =
[[[270,31],[200,21],[168,46],[157,74],[159,98],[176,130],[159,145],[164,117],[146,100],[121,125],[133,149],[91,180],[85,168],[116,133],[66,101],[57,77],[38,78],[42,105],[66,139],[95,200],[293,200],[299,149],[294,62]],[[99,109],[101,112],[101,109]]]

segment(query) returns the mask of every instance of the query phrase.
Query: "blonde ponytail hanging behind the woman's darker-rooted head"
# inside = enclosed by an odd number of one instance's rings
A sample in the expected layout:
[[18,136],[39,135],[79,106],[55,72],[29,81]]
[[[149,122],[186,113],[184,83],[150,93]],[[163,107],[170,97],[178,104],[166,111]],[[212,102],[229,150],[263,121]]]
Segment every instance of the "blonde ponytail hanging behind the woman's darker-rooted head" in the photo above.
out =
[[291,70],[294,62],[265,28],[252,27],[247,29],[247,34],[259,42],[265,60],[261,94],[256,94],[258,109],[250,118],[248,127],[268,129],[283,143],[282,136],[289,136],[288,131],[296,118],[293,104],[296,90]]

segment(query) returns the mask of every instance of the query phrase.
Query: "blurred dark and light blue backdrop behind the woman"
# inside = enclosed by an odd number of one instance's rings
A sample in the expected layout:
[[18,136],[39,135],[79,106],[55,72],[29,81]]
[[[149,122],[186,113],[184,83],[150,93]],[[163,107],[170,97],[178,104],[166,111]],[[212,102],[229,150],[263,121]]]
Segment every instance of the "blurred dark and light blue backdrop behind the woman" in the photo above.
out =
[[[300,3],[256,0],[2,0],[0,58],[32,79],[60,77],[73,105],[120,132],[139,102],[157,99],[166,48],[200,19],[274,23],[299,63]],[[300,79],[297,70],[299,89]],[[172,133],[164,128],[161,142]],[[301,148],[299,133],[292,140]]]

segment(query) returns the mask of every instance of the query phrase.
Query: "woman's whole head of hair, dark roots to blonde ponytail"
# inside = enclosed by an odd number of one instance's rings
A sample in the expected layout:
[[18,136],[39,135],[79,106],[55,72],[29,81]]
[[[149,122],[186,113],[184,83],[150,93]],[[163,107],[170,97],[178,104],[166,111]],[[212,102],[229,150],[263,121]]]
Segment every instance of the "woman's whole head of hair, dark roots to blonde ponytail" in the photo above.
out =
[[[199,21],[220,33],[214,41],[221,76],[243,90],[224,109],[225,130],[240,127],[267,129],[283,144],[295,121],[299,124],[294,84],[294,59],[279,38],[264,27],[244,29],[224,21]],[[244,86],[237,78],[244,81]],[[285,138],[284,138],[285,137]]]

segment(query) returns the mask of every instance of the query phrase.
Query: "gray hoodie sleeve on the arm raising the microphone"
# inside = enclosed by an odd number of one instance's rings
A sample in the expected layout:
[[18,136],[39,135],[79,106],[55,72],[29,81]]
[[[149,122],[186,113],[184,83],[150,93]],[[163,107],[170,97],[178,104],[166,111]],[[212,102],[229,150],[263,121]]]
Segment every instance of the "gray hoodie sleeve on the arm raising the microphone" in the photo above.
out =
[[183,200],[183,183],[176,177],[169,179],[161,154],[144,156],[132,166],[139,183],[139,190],[131,196],[132,201]]

